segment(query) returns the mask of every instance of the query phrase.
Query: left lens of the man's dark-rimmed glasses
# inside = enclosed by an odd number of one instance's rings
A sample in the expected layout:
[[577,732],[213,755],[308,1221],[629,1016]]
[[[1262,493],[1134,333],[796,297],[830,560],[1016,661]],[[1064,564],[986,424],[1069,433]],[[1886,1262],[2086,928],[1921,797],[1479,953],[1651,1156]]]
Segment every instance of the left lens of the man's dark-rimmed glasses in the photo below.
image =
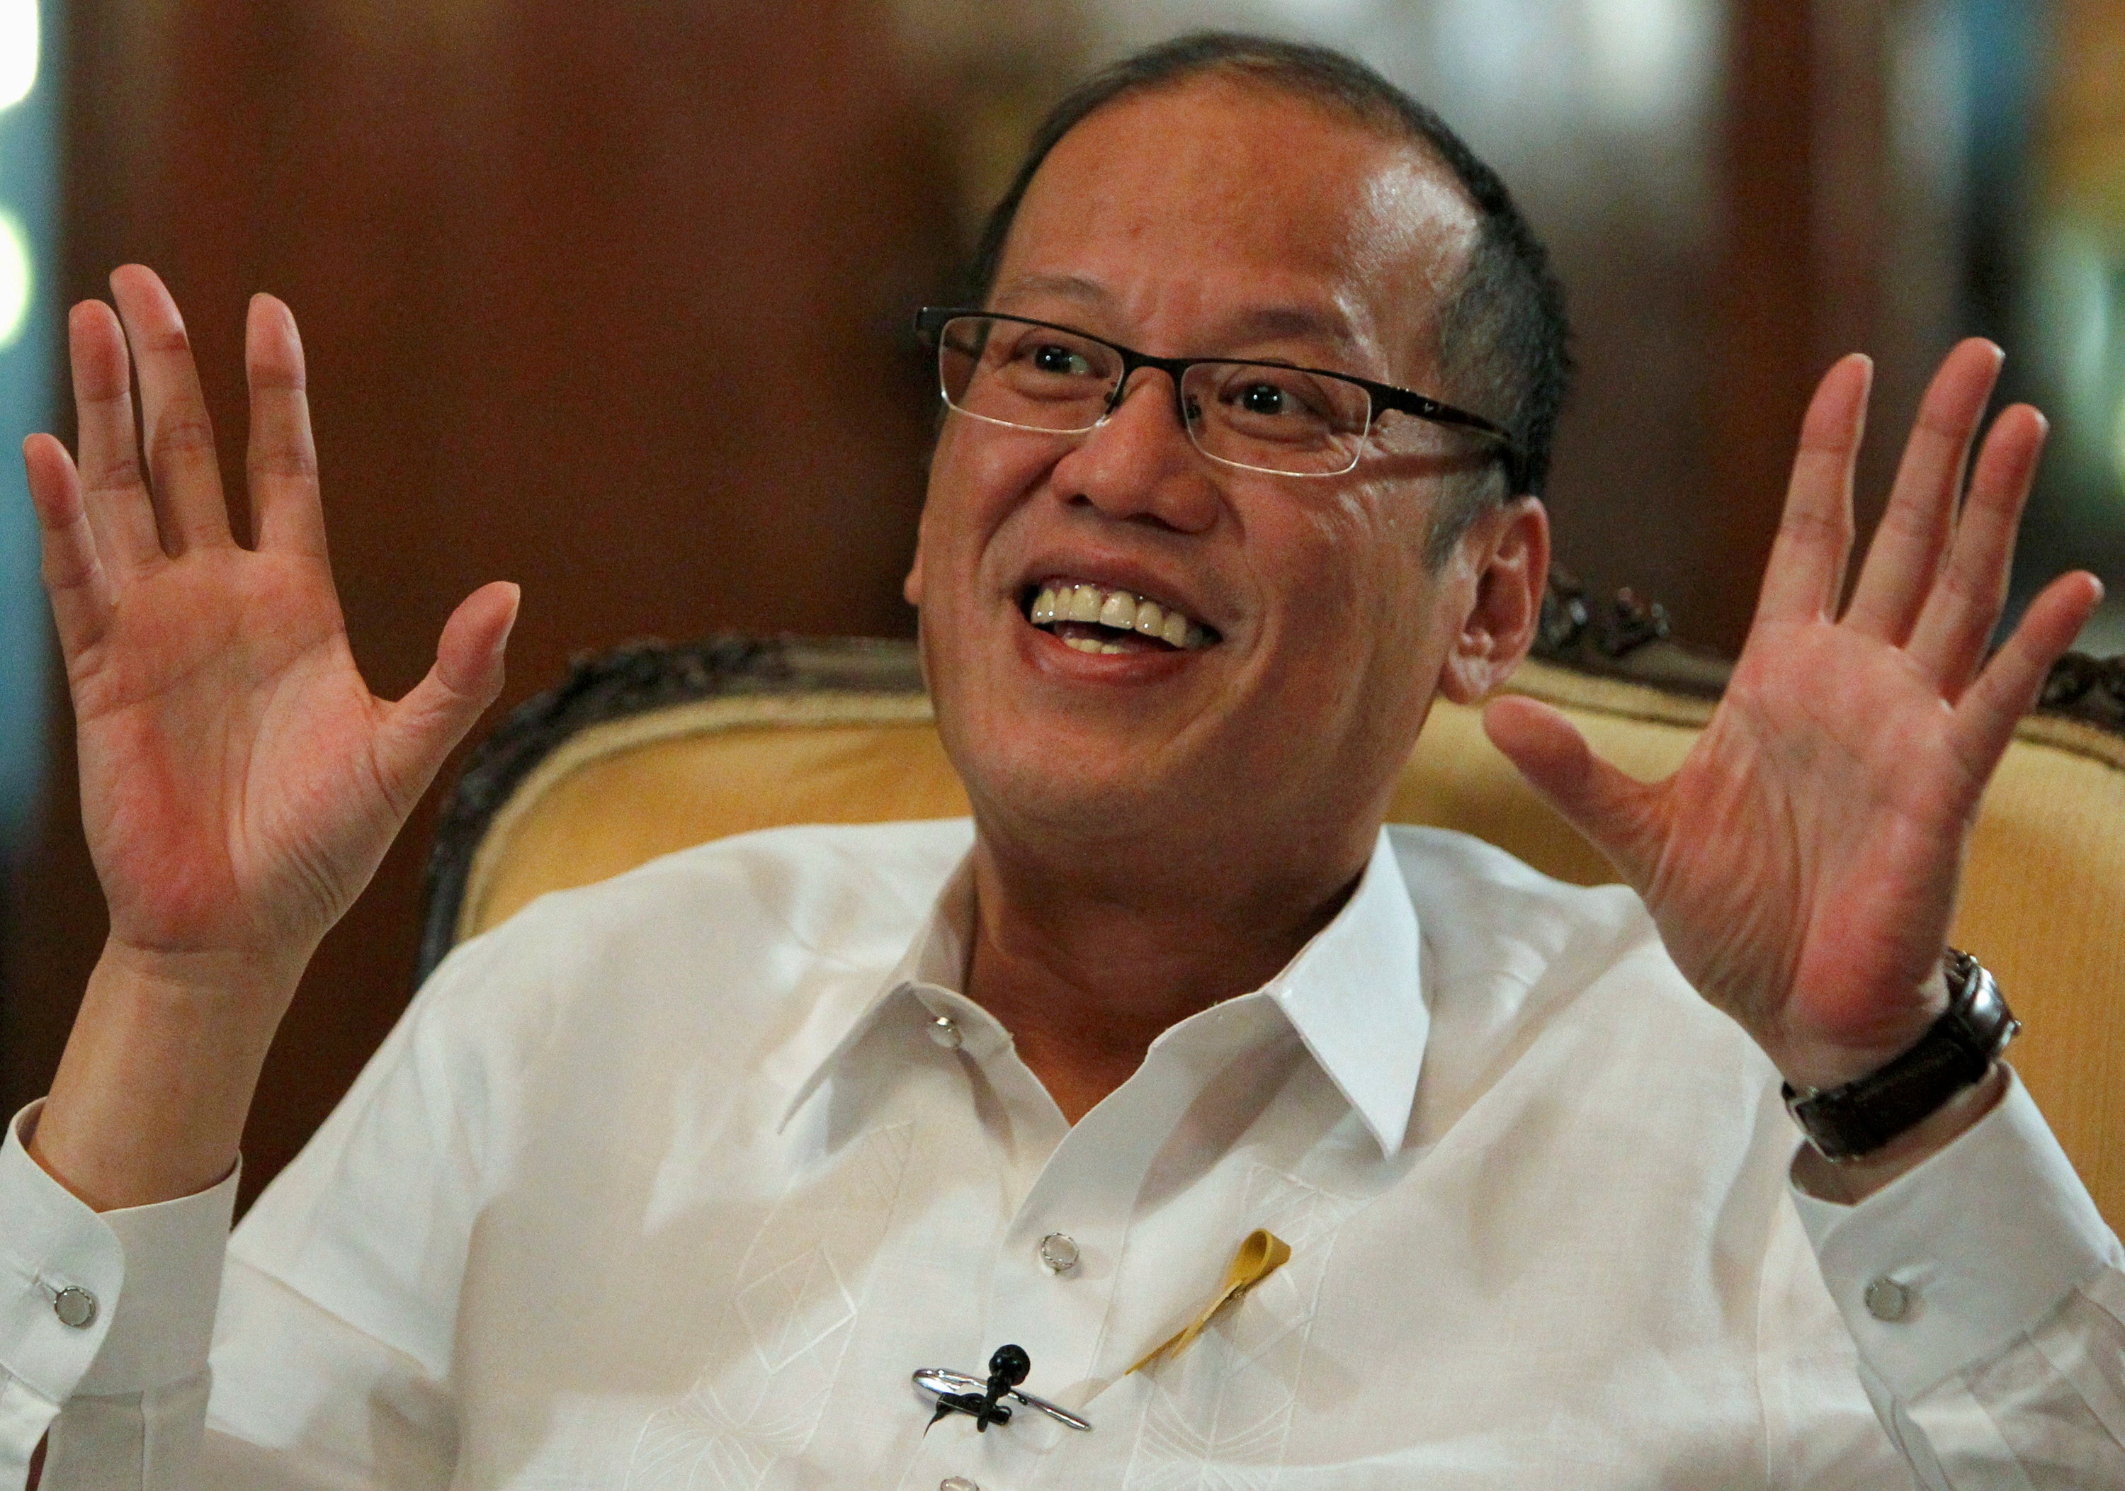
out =
[[1092,429],[1122,376],[1103,342],[1001,316],[956,316],[937,336],[944,399],[963,414],[1020,429]]

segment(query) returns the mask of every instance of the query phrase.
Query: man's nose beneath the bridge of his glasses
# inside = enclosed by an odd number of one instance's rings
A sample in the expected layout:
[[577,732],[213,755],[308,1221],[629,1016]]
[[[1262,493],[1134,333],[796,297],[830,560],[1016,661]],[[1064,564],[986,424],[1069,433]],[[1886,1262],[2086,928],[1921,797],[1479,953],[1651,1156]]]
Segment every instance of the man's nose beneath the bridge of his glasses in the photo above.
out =
[[1182,421],[1173,378],[1139,367],[1099,425],[1056,461],[1054,482],[1109,518],[1201,533],[1218,520],[1218,486]]

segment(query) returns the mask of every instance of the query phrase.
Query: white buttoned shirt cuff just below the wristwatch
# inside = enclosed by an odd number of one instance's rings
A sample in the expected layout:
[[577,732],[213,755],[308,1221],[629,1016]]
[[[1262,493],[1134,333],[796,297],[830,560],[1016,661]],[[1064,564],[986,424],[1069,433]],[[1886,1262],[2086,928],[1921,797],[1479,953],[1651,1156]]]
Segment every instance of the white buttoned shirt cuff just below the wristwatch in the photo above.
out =
[[2012,1068],[1991,1113],[1857,1206],[1789,1189],[1859,1355],[1900,1402],[2125,1262]]

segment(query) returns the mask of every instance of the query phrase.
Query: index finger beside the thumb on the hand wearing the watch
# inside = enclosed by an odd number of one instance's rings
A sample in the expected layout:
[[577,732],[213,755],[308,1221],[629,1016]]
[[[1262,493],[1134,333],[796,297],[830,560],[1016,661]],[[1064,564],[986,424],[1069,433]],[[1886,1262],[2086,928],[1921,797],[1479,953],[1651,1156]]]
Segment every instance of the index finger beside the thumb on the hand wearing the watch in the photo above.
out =
[[1844,556],[1853,546],[1853,463],[1866,433],[1872,384],[1874,363],[1853,353],[1823,374],[1808,401],[1785,516],[1755,603],[1757,622],[1817,620],[1838,603]]

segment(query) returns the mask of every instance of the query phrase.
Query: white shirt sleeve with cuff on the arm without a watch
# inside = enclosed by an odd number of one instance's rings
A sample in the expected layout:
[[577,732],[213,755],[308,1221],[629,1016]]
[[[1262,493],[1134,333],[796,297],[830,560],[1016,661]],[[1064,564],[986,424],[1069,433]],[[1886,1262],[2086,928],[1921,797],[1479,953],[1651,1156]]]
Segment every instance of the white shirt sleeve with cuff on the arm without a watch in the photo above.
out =
[[0,1143],[0,1491],[40,1442],[40,1491],[448,1485],[487,1111],[468,1126],[465,1096],[499,1079],[436,1009],[491,947],[446,960],[234,1236],[234,1175],[98,1215],[30,1158],[23,1109]]

